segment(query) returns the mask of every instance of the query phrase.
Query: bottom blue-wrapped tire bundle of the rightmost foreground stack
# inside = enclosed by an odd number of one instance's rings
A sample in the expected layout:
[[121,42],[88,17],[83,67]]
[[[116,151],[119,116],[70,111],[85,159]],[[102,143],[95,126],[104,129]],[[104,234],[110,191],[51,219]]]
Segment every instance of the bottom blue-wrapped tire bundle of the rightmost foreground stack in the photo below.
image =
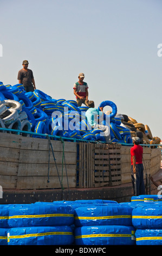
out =
[[162,229],[137,229],[136,245],[162,245]]

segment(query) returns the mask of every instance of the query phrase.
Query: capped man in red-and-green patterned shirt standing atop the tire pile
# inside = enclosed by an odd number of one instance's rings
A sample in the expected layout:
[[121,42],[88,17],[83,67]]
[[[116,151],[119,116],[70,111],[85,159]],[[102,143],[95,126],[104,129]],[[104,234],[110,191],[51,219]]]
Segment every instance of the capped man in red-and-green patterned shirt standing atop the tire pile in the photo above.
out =
[[88,84],[86,82],[83,82],[85,75],[83,73],[80,73],[79,81],[74,83],[74,95],[76,96],[76,102],[77,106],[81,106],[82,103],[87,106],[88,102]]

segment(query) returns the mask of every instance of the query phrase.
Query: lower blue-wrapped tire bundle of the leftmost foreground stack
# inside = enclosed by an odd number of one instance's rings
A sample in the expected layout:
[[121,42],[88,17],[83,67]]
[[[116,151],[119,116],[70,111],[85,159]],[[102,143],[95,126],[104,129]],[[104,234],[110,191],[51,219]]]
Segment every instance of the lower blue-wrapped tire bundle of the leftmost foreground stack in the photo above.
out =
[[68,226],[11,228],[8,245],[72,245],[74,236]]

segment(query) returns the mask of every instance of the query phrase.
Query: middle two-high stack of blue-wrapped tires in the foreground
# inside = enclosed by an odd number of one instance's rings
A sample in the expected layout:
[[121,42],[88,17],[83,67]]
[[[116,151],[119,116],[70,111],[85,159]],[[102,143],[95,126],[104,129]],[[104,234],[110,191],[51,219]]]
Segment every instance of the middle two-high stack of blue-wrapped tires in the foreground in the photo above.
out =
[[74,210],[76,245],[135,245],[132,210],[118,204],[80,206]]

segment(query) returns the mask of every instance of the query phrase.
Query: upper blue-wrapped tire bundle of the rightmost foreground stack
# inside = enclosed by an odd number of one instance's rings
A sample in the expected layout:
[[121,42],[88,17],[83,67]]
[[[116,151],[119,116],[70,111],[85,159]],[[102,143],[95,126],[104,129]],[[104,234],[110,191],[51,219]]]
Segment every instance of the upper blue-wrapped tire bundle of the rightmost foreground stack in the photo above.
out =
[[162,205],[150,204],[133,209],[132,223],[135,228],[162,228]]

